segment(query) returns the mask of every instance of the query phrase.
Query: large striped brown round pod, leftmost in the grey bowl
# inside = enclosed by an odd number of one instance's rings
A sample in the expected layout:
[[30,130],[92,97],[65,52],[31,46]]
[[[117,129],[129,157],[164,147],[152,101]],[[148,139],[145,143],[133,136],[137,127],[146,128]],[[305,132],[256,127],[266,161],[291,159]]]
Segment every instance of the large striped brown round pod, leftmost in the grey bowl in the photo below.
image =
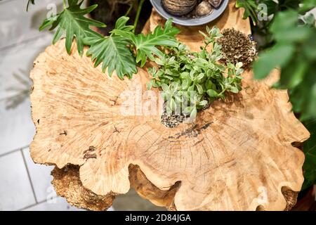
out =
[[172,15],[185,15],[197,5],[197,0],[162,0],[164,10]]

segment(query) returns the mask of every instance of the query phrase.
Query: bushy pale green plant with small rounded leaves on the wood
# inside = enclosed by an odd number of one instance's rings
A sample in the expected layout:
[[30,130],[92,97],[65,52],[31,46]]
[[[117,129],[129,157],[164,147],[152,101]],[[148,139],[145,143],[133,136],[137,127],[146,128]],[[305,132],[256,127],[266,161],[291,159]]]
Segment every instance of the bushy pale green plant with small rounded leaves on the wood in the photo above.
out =
[[[197,110],[217,98],[225,99],[225,92],[238,93],[241,90],[242,63],[223,65],[218,60],[223,57],[216,39],[220,30],[206,27],[204,46],[201,51],[190,51],[187,46],[165,48],[168,54],[154,58],[157,67],[149,68],[152,80],[147,89],[161,87],[166,100],[167,113],[184,113],[195,117]],[[206,47],[212,45],[212,51]],[[180,110],[180,111],[179,111]]]

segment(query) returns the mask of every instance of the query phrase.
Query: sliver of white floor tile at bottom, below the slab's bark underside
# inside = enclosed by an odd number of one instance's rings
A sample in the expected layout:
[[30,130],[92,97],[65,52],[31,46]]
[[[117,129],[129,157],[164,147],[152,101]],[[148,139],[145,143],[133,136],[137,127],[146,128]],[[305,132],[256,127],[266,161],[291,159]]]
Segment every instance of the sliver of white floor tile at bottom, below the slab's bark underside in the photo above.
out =
[[67,203],[65,198],[53,198],[44,203],[39,203],[32,207],[26,208],[24,211],[82,211],[77,207],[73,207]]

